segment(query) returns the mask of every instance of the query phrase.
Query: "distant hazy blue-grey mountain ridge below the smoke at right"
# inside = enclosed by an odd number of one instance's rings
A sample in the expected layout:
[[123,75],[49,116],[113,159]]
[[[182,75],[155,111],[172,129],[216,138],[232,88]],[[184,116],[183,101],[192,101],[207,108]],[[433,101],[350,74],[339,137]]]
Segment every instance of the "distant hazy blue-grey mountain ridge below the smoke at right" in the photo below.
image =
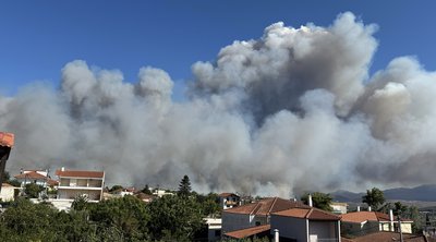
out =
[[[412,189],[388,189],[383,191],[383,193],[385,194],[386,199],[436,202],[436,184],[419,185]],[[334,201],[352,203],[362,202],[362,196],[365,194],[366,192],[353,193],[344,190],[339,190],[330,193]]]

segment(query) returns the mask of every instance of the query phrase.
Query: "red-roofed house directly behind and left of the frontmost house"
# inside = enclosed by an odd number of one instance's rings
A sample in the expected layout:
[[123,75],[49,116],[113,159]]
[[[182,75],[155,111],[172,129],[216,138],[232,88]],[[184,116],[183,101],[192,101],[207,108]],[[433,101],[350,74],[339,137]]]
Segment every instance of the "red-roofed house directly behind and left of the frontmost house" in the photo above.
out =
[[270,214],[290,208],[307,208],[301,202],[270,197],[222,210],[222,233],[270,223]]

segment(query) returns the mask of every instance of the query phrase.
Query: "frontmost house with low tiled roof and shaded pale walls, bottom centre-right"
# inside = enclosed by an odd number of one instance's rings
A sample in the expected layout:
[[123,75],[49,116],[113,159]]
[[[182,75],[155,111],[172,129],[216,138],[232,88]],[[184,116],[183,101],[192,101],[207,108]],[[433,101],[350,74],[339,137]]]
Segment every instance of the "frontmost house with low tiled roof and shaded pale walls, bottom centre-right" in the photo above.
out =
[[271,234],[279,231],[280,241],[340,242],[340,217],[314,208],[291,208],[271,213]]

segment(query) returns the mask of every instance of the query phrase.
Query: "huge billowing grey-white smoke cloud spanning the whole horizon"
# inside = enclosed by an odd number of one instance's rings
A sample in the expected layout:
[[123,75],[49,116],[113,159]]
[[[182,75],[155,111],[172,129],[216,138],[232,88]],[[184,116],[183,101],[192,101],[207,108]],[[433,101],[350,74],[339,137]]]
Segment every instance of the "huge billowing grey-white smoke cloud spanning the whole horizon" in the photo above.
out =
[[436,74],[401,57],[373,76],[376,25],[352,13],[331,26],[276,23],[192,66],[187,100],[164,70],[136,83],[72,61],[58,90],[0,97],[16,135],[9,169],[104,169],[109,183],[199,192],[299,195],[305,190],[436,182]]

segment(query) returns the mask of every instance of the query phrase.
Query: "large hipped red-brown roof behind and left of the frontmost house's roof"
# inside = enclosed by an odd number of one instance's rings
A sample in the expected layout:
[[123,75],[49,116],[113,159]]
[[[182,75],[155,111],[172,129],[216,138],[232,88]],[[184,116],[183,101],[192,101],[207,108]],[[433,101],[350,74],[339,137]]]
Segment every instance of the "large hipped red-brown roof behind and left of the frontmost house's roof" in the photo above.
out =
[[267,216],[271,213],[287,210],[290,208],[311,208],[311,207],[301,202],[283,199],[280,197],[270,197],[258,201],[256,203],[245,204],[239,207],[226,209],[222,213],[245,214],[245,215],[255,214],[255,215]]

